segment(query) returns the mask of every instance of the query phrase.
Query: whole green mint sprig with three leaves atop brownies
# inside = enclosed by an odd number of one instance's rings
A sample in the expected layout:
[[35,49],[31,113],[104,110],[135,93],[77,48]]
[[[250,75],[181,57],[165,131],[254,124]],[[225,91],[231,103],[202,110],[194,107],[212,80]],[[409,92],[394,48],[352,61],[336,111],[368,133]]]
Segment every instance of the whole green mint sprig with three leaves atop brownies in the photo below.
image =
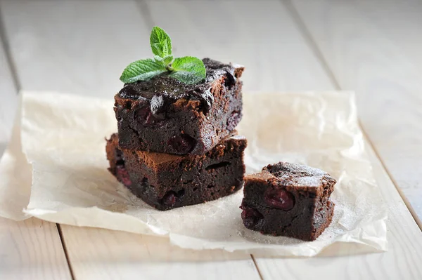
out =
[[199,58],[173,58],[172,39],[160,27],[153,27],[150,44],[154,58],[129,64],[120,76],[120,81],[125,84],[147,81],[165,72],[185,84],[197,84],[205,79],[205,65]]

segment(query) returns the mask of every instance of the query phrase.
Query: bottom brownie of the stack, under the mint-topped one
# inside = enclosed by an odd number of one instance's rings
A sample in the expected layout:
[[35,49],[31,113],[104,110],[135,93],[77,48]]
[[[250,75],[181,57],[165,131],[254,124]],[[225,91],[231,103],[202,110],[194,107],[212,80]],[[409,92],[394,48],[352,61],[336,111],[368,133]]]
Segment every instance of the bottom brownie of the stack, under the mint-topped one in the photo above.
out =
[[160,154],[118,146],[107,140],[110,172],[158,210],[200,204],[233,194],[243,185],[246,140],[236,131],[202,156]]

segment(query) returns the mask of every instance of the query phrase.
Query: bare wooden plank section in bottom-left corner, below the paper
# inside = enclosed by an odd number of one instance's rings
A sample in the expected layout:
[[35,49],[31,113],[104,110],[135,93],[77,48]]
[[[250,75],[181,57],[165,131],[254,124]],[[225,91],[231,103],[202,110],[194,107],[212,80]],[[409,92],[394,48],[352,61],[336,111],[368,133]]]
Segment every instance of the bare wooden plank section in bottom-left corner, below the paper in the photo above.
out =
[[72,279],[56,224],[0,218],[0,279]]

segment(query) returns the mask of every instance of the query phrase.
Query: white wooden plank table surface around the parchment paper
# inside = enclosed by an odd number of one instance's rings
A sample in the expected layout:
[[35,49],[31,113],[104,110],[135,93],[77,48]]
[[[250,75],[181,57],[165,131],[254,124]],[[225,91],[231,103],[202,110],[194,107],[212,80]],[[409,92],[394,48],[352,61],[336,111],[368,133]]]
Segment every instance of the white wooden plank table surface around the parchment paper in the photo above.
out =
[[151,56],[159,25],[176,55],[246,65],[245,92],[356,91],[390,207],[388,252],[338,258],[188,251],[151,236],[0,218],[0,279],[422,279],[421,15],[416,0],[0,0],[0,153],[18,91],[112,98],[122,69]]

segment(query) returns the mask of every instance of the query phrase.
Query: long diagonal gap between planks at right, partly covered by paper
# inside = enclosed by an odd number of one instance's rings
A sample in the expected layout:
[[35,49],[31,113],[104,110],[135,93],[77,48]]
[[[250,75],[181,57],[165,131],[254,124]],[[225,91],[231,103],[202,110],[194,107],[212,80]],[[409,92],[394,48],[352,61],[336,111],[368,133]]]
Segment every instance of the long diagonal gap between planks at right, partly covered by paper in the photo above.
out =
[[[292,16],[293,21],[295,22],[295,24],[298,25],[298,29],[302,33],[303,38],[305,39],[305,41],[307,41],[307,44],[309,44],[309,47],[314,52],[316,58],[318,58],[318,60],[321,63],[322,67],[324,68],[324,71],[326,71],[326,74],[330,77],[330,79],[331,79],[331,81],[333,83],[333,86],[336,89],[341,90],[342,88],[341,88],[340,84],[338,83],[337,79],[335,79],[335,76],[334,76],[333,71],[329,67],[329,65],[326,62],[326,60],[324,59],[324,55],[322,55],[321,50],[318,48],[318,45],[316,44],[314,38],[312,37],[311,32],[309,32],[309,30],[307,29],[307,27],[305,25],[305,22],[300,17],[300,14],[296,10],[295,6],[293,6],[293,4],[292,4],[292,2],[290,0],[280,0],[280,1],[286,7],[286,9],[290,13],[290,15]],[[400,189],[399,185],[397,184],[396,180],[392,177],[390,171],[388,170],[388,168],[385,165],[383,159],[381,158],[381,156],[380,156],[380,154],[378,152],[378,149],[375,147],[375,145],[373,145],[373,142],[371,141],[371,138],[369,138],[368,133],[366,133],[366,131],[364,129],[364,126],[362,126],[362,124],[361,124],[360,121],[359,121],[359,126],[360,126],[362,132],[364,133],[364,136],[365,136],[366,140],[368,141],[369,145],[372,147],[373,152],[375,152],[376,157],[381,162],[381,165],[383,166],[385,172],[387,173],[388,177],[390,178],[392,184],[397,189],[397,192],[399,192],[399,195],[402,198],[402,200],[404,201],[404,204],[406,205],[407,209],[411,213],[411,216],[414,218],[414,220],[416,222],[416,225],[418,225],[418,227],[422,231],[422,222],[421,222],[421,220],[418,218],[418,215],[416,215],[416,212],[414,211],[414,208],[409,203],[409,200],[406,198],[406,196],[404,196],[404,194],[403,194],[402,190]]]

